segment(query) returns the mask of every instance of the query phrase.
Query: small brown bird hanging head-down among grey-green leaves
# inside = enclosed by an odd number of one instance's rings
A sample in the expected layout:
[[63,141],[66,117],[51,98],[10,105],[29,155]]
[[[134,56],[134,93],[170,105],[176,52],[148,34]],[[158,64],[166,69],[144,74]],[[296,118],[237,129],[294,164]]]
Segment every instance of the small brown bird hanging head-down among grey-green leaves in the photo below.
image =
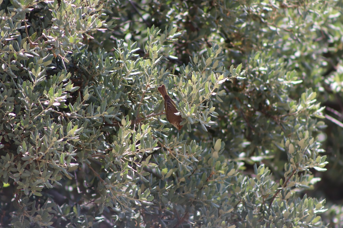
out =
[[184,120],[181,116],[176,116],[175,113],[178,112],[176,109],[175,102],[168,96],[166,86],[161,85],[158,88],[159,93],[161,93],[164,98],[164,109],[166,110],[166,117],[169,123],[173,124],[177,130],[180,130],[183,125],[180,123]]

